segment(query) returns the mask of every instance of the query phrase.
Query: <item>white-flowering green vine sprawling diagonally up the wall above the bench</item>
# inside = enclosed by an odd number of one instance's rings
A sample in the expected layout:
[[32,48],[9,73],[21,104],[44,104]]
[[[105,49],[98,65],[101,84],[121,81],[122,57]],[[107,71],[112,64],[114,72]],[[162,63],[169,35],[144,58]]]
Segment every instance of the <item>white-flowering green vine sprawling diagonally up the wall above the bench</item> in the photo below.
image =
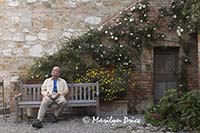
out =
[[[175,29],[178,36],[196,29],[196,17],[199,16],[190,17],[188,9],[191,5],[186,0],[183,2],[184,4],[182,1],[180,4],[180,0],[175,0],[169,9],[159,9],[158,16],[152,20],[150,3],[148,0],[142,0],[128,10],[120,12],[119,16],[112,20],[112,24],[91,28],[78,38],[64,41],[59,51],[53,55],[37,59],[30,68],[28,79],[43,80],[49,77],[49,72],[55,65],[61,67],[61,76],[68,82],[81,78],[90,69],[126,69],[133,72],[140,65],[143,48],[151,49],[157,41],[166,38],[160,20],[169,18],[171,23],[168,30]],[[129,85],[131,82],[124,78],[121,84]]]

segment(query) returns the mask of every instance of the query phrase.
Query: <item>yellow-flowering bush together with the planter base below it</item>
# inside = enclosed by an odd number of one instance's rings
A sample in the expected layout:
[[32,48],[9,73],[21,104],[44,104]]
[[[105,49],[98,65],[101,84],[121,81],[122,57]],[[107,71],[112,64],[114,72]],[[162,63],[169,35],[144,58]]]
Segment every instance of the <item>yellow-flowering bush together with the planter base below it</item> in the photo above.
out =
[[128,78],[124,76],[127,70],[121,69],[88,69],[85,75],[75,82],[99,82],[101,112],[113,115],[120,112],[127,114],[127,91],[130,88]]

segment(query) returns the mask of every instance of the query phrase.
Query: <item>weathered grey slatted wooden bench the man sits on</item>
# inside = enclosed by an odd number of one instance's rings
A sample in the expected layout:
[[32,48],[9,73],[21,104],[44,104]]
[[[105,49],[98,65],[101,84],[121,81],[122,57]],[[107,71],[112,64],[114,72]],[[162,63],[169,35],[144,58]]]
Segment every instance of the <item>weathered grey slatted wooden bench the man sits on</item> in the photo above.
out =
[[[18,95],[15,95],[16,121],[23,117],[23,109],[39,108],[42,100],[42,84],[20,84]],[[98,83],[72,83],[68,84],[68,107],[96,106],[99,115],[99,85]]]

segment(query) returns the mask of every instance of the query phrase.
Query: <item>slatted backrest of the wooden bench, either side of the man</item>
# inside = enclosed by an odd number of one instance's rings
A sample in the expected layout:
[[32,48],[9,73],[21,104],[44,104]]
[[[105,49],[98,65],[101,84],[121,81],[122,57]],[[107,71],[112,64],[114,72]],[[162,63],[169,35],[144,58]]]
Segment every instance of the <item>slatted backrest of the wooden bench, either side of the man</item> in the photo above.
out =
[[[42,84],[22,84],[20,92],[23,93],[23,100],[40,101]],[[69,100],[95,100],[99,96],[98,83],[74,83],[68,84]]]

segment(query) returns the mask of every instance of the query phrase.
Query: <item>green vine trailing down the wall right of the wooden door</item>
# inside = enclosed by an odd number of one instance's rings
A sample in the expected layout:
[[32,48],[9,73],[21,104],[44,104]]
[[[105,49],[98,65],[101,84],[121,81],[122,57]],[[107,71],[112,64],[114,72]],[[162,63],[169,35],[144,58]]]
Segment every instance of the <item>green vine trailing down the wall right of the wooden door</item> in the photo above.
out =
[[179,43],[183,48],[180,90],[188,91],[188,66],[191,63],[189,57],[188,38],[190,33],[198,33],[200,29],[200,1],[198,0],[174,0],[168,15],[172,21],[169,29],[174,29],[179,36]]

